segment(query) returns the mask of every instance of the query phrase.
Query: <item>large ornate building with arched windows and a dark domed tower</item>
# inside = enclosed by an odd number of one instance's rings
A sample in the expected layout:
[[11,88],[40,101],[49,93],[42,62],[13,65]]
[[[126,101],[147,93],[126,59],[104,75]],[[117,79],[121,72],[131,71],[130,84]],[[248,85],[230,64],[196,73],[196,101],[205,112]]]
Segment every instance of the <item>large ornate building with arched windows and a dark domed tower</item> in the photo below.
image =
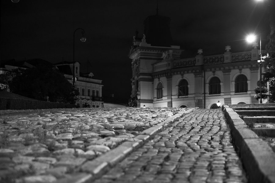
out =
[[171,46],[170,18],[149,16],[144,24],[145,34],[138,38],[136,33],[129,53],[131,96],[138,98],[138,107],[216,108],[218,101],[259,103],[254,98],[260,78],[257,45],[239,53],[231,53],[226,46],[225,53],[211,56],[199,49],[195,57],[180,58],[183,49]]

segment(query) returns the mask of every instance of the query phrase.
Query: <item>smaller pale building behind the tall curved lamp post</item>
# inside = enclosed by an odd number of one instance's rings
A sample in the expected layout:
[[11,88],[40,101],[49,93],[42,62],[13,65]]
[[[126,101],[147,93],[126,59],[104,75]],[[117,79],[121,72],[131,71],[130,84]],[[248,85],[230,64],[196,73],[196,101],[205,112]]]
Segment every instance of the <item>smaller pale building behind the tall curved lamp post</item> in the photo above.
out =
[[[60,62],[54,64],[64,73],[64,76],[70,83],[72,83],[73,78],[73,62]],[[89,108],[102,108],[102,80],[94,79],[94,74],[92,72],[82,74],[80,73],[80,64],[75,62],[75,88],[79,91],[79,101],[76,105],[79,107],[85,107],[85,103],[89,105]]]

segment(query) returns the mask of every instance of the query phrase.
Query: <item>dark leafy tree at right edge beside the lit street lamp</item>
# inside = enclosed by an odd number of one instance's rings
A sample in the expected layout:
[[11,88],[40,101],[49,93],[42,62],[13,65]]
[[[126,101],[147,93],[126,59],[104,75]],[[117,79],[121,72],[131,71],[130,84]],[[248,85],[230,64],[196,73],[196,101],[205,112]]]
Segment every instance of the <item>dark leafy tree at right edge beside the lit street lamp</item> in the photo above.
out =
[[270,102],[275,102],[275,3],[270,2],[270,35],[269,42],[266,45],[268,56],[264,60],[265,72],[263,78],[265,82],[270,83]]

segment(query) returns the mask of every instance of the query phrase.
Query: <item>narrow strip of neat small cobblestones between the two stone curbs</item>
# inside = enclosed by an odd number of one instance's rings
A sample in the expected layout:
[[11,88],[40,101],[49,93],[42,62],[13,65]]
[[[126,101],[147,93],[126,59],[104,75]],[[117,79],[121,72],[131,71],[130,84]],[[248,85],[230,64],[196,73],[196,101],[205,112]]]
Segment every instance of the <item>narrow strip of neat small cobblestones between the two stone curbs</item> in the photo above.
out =
[[127,156],[94,183],[247,182],[219,109],[198,109]]

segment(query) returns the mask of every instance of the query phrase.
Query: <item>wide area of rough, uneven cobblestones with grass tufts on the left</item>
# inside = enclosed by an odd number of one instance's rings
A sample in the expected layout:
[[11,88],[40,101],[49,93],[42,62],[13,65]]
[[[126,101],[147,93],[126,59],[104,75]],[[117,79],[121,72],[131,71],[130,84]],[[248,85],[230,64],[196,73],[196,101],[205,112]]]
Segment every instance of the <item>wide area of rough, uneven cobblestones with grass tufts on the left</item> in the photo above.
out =
[[57,182],[184,108],[0,111],[0,182]]

